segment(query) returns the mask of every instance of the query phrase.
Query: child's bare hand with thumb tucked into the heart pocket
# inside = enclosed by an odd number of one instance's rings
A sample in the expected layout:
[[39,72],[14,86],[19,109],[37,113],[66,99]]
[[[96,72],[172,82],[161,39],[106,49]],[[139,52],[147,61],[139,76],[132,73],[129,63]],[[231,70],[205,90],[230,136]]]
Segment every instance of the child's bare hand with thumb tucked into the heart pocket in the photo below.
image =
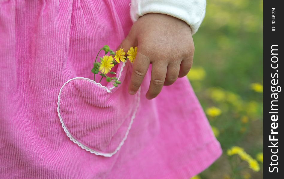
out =
[[163,85],[171,85],[191,68],[194,43],[191,28],[184,21],[165,14],[146,14],[132,26],[121,46],[127,50],[138,45],[129,84],[129,94],[139,89],[152,64],[151,82],[146,98],[155,98]]

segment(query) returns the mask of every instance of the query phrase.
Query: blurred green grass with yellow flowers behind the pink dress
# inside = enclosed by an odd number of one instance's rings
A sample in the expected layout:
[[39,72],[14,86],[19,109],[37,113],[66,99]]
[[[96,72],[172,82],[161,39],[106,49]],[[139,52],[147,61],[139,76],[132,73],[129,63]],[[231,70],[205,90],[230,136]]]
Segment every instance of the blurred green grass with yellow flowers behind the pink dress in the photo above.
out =
[[[223,149],[222,157],[199,175],[202,179],[262,178],[261,161],[260,171],[254,172],[237,156],[226,154],[232,146],[240,146],[256,158],[263,148],[262,4],[262,0],[207,1],[205,19],[193,36],[194,64],[188,78]],[[236,167],[242,169],[234,174]]]

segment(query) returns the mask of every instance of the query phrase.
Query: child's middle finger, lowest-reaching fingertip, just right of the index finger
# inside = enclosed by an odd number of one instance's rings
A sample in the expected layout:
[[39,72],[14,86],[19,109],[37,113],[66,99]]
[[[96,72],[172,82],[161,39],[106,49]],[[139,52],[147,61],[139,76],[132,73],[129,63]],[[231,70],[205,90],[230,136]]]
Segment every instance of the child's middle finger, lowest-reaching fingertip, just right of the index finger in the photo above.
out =
[[152,63],[151,82],[146,93],[147,99],[153,99],[161,92],[167,75],[167,64],[161,62]]

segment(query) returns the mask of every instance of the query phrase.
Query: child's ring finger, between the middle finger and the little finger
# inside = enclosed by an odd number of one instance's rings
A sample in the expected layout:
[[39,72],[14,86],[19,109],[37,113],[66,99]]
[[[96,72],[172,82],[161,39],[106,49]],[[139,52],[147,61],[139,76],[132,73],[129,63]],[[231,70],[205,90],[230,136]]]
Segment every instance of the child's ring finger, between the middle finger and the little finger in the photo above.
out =
[[165,86],[169,86],[176,81],[176,79],[179,77],[179,68],[180,68],[179,61],[168,64],[167,75],[164,83]]

